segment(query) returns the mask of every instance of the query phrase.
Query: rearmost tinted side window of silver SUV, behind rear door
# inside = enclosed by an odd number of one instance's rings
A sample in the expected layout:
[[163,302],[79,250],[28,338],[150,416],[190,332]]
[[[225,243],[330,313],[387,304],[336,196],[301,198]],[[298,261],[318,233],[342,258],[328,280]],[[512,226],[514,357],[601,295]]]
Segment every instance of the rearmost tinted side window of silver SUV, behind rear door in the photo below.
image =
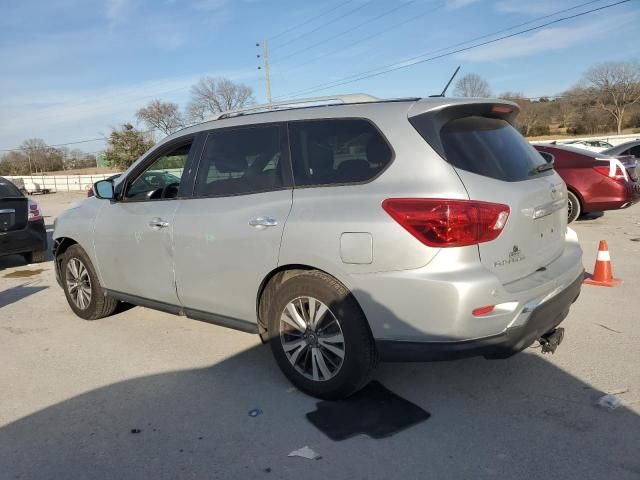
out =
[[387,142],[365,120],[314,120],[289,124],[296,185],[370,180],[391,161]]

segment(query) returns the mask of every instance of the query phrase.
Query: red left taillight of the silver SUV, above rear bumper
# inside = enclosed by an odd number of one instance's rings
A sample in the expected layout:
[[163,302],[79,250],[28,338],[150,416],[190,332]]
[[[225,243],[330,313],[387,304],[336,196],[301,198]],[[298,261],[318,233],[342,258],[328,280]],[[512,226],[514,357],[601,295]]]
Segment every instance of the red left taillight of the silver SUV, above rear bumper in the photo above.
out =
[[388,198],[382,208],[430,247],[462,247],[500,235],[509,207],[500,203],[440,198]]

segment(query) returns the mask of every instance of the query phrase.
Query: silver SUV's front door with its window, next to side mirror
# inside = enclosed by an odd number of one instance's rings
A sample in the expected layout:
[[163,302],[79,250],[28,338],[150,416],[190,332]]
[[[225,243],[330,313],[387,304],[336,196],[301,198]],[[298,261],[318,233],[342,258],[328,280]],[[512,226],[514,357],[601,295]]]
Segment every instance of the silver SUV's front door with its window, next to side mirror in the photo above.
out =
[[128,174],[117,201],[100,200],[94,248],[105,288],[179,305],[173,272],[174,215],[193,137],[172,142]]

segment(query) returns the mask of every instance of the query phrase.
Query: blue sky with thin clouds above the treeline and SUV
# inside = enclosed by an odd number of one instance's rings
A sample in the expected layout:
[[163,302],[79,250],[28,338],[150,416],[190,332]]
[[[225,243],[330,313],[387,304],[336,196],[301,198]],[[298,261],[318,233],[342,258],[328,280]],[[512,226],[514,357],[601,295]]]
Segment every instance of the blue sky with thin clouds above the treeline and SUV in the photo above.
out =
[[[276,99],[428,96],[440,93],[458,65],[460,76],[480,75],[496,95],[556,95],[596,63],[640,58],[640,0],[452,52],[617,0],[556,14],[587,1],[5,0],[0,150],[27,138],[102,138],[124,122],[136,125],[135,112],[152,99],[186,106],[203,76],[245,83],[263,103],[257,55],[264,40]],[[388,65],[405,68],[332,86]],[[104,146],[69,145],[86,152]]]

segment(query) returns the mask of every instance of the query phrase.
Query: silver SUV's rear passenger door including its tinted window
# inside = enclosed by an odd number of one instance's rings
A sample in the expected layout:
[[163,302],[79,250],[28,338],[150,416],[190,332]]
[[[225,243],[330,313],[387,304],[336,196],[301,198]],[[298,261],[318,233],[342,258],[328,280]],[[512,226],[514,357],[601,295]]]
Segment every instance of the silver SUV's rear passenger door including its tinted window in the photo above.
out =
[[176,284],[188,316],[230,317],[237,328],[256,322],[256,295],[278,265],[291,210],[288,151],[281,124],[207,133],[194,198],[174,220]]

